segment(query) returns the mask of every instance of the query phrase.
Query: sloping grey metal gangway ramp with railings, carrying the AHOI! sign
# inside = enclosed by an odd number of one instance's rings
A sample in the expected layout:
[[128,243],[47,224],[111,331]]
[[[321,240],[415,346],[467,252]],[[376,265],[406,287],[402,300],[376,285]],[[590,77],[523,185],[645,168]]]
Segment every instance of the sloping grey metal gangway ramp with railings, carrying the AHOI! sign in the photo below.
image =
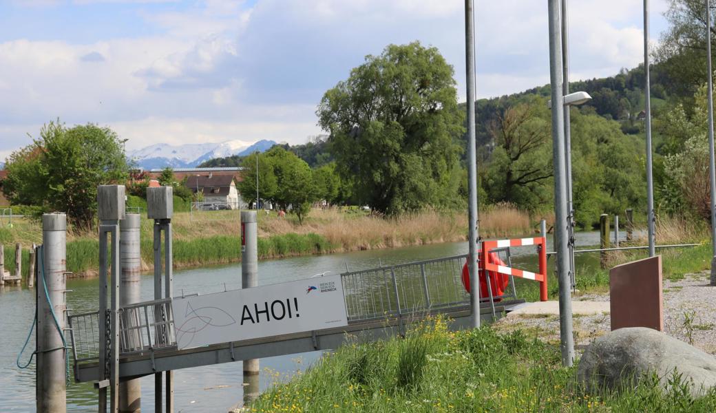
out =
[[[493,252],[510,262],[509,248]],[[336,349],[349,339],[386,339],[405,334],[408,324],[435,314],[448,317],[451,329],[467,328],[470,297],[460,281],[466,259],[466,255],[453,256],[342,273],[347,326],[192,349],[178,349],[172,298],[123,306],[118,317],[120,381],[161,371]],[[485,320],[524,302],[518,300],[514,287],[504,296],[482,301],[480,315]],[[74,378],[77,382],[99,382],[99,325],[100,320],[105,319],[100,317],[99,311],[94,311],[69,315],[68,320]]]

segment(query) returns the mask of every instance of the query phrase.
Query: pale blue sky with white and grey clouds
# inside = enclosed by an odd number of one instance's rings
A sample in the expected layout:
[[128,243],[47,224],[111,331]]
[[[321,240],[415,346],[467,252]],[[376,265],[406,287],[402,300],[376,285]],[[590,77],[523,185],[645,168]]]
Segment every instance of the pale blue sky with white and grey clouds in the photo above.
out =
[[[651,42],[668,0],[651,1]],[[547,84],[547,1],[475,0],[478,97]],[[463,0],[0,0],[0,161],[51,120],[154,143],[304,143],[316,105],[387,44],[452,64]],[[570,0],[571,79],[643,60],[642,0]]]

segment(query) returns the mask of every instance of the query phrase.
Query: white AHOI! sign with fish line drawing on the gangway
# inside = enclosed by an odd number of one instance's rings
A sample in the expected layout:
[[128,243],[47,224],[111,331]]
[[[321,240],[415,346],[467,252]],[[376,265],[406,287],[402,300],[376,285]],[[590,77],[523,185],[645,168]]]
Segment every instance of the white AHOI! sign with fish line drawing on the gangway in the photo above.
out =
[[179,349],[348,325],[341,276],[174,298]]

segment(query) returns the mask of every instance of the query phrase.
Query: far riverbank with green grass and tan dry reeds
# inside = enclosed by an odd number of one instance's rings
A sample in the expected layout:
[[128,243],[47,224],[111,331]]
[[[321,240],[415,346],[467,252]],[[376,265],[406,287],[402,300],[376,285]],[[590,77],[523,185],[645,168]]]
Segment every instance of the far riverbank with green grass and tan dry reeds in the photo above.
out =
[[[189,268],[241,261],[240,215],[238,210],[175,213],[173,256],[175,268]],[[531,217],[510,205],[486,208],[481,220],[485,237],[533,233]],[[142,220],[142,270],[153,262],[153,222]],[[423,211],[397,218],[382,218],[358,209],[312,210],[299,223],[295,216],[258,213],[259,259],[311,254],[362,251],[374,248],[425,245],[467,239],[464,213]],[[14,220],[12,228],[0,228],[5,245],[6,268],[14,268],[14,243],[24,246],[23,274],[26,278],[28,248],[42,243],[42,228],[36,220]],[[75,277],[97,275],[99,242],[92,231],[70,231],[67,237],[67,271]]]

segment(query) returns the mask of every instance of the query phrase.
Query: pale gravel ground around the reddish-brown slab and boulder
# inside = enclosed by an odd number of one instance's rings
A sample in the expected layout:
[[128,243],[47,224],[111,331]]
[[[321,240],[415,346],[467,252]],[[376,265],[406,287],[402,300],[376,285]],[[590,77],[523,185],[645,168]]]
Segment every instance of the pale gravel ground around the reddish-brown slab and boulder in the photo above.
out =
[[[609,294],[587,293],[574,300],[609,301]],[[610,330],[609,314],[574,316],[574,343],[581,353],[597,337]],[[502,331],[522,329],[553,343],[559,342],[558,316],[512,315],[495,323]],[[664,330],[669,336],[716,354],[716,287],[709,273],[687,274],[679,281],[664,281]]]

